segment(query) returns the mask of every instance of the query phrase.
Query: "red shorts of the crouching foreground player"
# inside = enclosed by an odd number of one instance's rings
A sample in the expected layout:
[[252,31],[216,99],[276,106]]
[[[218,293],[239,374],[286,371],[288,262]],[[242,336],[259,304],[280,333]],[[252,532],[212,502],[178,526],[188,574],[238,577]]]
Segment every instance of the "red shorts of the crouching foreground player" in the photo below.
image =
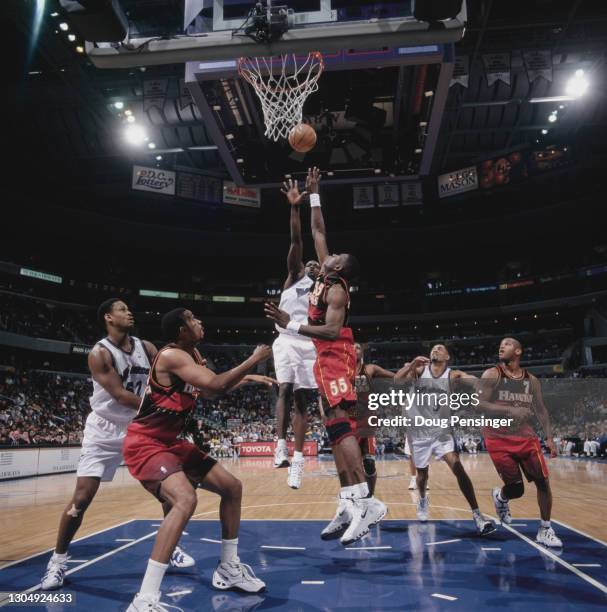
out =
[[122,452],[131,476],[156,497],[167,476],[184,472],[191,481],[200,482],[217,463],[186,440],[167,444],[143,434],[127,433]]

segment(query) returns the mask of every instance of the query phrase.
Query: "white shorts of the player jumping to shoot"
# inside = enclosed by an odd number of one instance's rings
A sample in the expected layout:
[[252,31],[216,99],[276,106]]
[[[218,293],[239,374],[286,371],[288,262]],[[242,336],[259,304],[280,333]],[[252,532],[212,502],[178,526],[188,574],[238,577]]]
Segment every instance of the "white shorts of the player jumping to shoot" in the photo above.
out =
[[293,389],[316,389],[312,371],[316,349],[311,340],[279,334],[272,345],[272,352],[279,383],[293,383]]

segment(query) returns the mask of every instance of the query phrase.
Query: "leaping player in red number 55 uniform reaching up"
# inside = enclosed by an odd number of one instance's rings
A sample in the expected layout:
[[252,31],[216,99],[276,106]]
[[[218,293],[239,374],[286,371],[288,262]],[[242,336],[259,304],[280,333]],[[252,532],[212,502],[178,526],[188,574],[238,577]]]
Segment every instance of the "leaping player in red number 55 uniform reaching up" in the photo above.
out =
[[[266,304],[265,312],[281,327],[312,338],[316,347],[314,377],[327,417],[325,427],[341,484],[338,513],[321,537],[331,539],[341,535],[341,543],[345,546],[367,534],[369,528],[385,516],[387,508],[369,493],[360,447],[349,419],[349,410],[356,403],[356,352],[352,330],[346,325],[350,308],[349,282],[358,273],[358,262],[350,254],[329,254],[318,194],[319,180],[318,168],[312,168],[308,172],[306,189],[310,193],[312,237],[321,267],[310,292],[309,324],[291,321],[288,313],[274,304]],[[289,181],[289,189],[297,189],[297,185]]]

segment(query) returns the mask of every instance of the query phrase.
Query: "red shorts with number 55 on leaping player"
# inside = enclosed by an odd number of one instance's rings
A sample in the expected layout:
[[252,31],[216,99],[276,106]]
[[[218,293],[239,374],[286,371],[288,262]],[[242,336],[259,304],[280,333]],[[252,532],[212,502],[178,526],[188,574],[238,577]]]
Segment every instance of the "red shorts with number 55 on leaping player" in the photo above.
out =
[[355,402],[356,351],[352,330],[343,327],[337,340],[314,340],[314,378],[318,390],[331,408],[342,401]]

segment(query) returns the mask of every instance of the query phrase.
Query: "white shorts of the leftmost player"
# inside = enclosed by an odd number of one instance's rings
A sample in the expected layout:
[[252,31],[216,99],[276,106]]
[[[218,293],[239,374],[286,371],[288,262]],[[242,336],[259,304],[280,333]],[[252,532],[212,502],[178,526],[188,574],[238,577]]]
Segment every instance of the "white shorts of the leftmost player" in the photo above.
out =
[[127,427],[128,423],[116,425],[91,412],[84,426],[77,476],[101,478],[103,482],[113,480],[122,463]]

